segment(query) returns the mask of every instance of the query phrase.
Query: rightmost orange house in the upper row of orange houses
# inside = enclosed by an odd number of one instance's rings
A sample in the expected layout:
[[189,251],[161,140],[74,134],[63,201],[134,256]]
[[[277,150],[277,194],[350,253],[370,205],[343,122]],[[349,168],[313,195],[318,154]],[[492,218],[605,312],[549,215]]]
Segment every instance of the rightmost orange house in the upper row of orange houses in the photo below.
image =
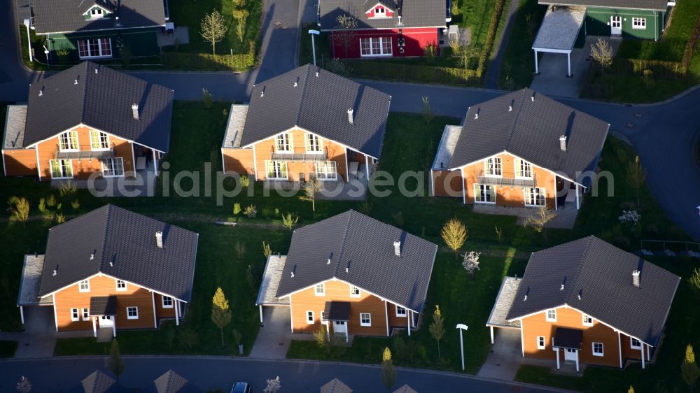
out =
[[477,103],[445,127],[430,190],[470,205],[577,210],[609,128],[530,89]]

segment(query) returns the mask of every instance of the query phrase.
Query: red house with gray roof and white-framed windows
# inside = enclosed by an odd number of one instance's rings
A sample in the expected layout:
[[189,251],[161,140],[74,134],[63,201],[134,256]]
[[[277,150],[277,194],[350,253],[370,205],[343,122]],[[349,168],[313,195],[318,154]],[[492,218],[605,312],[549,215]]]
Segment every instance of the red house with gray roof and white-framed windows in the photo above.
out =
[[[447,28],[444,0],[319,0],[318,26],[328,32],[331,56],[422,56],[427,45],[439,47]],[[339,18],[356,22],[345,29]],[[354,23],[353,23],[354,24]]]

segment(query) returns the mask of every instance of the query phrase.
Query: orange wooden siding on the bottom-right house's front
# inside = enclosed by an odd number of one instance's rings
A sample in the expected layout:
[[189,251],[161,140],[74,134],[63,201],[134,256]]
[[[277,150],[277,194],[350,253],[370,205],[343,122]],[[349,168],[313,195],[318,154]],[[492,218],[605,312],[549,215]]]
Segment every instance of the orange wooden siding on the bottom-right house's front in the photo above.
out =
[[[583,326],[583,315],[572,308],[557,308],[556,322],[547,322],[547,313],[539,313],[522,320],[521,329],[524,340],[526,357],[538,357],[555,361],[556,352],[552,350],[552,337],[557,327],[583,330],[583,344],[579,352],[579,361],[585,364],[601,364],[619,367],[619,349],[617,347],[617,332],[596,320],[592,327]],[[545,349],[537,349],[537,337],[545,337]],[[593,356],[592,343],[603,343],[603,356]],[[623,344],[624,346],[624,344]],[[559,361],[563,362],[563,350],[559,353]]]

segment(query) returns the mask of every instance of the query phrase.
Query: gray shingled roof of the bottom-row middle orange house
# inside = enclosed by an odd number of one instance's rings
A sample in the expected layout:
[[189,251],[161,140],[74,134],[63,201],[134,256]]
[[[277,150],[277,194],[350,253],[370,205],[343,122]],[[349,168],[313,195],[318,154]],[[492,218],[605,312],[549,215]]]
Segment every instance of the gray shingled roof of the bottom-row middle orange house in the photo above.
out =
[[429,241],[348,210],[294,231],[277,296],[335,277],[421,312],[435,252]]

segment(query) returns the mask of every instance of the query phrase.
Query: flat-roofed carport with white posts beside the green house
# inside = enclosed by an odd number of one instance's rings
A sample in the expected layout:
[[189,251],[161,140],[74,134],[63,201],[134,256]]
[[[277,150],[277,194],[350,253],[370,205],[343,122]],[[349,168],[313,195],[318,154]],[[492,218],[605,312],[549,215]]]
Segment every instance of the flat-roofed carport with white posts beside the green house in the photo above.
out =
[[571,77],[571,51],[576,43],[584,17],[585,7],[549,6],[542,25],[537,32],[532,49],[535,51],[535,73],[540,73],[538,53],[561,53],[566,55],[568,72]]

